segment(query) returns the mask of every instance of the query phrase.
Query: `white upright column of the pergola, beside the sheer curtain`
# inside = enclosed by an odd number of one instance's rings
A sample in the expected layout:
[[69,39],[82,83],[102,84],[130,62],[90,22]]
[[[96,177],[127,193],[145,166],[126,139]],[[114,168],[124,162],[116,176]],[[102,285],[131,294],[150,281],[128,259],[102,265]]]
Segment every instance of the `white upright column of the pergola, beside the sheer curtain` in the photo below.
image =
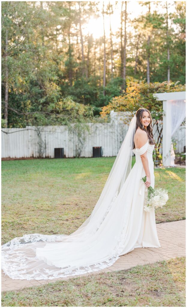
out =
[[171,104],[163,100],[162,164],[171,166]]

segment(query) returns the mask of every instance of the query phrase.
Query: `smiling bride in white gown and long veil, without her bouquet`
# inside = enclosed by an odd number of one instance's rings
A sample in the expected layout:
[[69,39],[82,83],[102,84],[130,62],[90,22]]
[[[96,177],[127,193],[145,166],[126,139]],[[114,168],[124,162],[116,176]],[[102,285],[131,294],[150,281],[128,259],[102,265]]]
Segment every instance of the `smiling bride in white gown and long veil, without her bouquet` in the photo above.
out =
[[143,210],[147,188],[154,188],[154,147],[150,112],[139,108],[86,221],[70,235],[25,234],[2,245],[4,273],[12,279],[63,278],[109,267],[134,248],[161,247],[154,208]]

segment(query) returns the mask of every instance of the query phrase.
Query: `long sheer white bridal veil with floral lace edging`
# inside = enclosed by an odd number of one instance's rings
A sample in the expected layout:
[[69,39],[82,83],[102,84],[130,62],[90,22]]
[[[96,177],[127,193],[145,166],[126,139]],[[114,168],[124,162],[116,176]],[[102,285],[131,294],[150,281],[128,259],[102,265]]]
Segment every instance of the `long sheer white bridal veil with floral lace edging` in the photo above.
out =
[[[90,217],[88,217],[82,226],[70,235],[42,235],[39,233],[25,234],[22,237],[16,237],[8,243],[2,245],[2,269],[5,274],[12,279],[51,280],[54,278],[65,278],[68,276],[99,271],[113,265],[117,261],[120,253],[124,249],[125,239],[127,236],[128,217],[130,212],[130,205],[128,202],[123,209],[123,217],[127,218],[124,218],[124,221],[121,222],[120,228],[116,231],[116,234],[114,234],[113,243],[109,245],[111,247],[107,247],[107,256],[109,256],[108,259],[106,259],[102,253],[100,253],[97,257],[97,252],[94,255],[95,261],[97,260],[101,262],[94,263],[93,257],[89,253],[87,259],[86,257],[84,259],[85,249],[81,246],[82,250],[78,251],[78,261],[80,262],[80,255],[82,254],[83,258],[81,259],[81,262],[83,264],[80,263],[81,266],[76,265],[75,258],[73,265],[68,265],[62,268],[54,266],[52,264],[53,262],[51,262],[51,264],[49,264],[50,261],[47,263],[46,255],[44,255],[44,257],[40,260],[36,256],[36,249],[44,248],[46,243],[54,243],[54,245],[56,245],[60,244],[61,241],[65,244],[66,241],[67,243],[72,242],[75,247],[78,247],[77,244],[79,242],[82,244],[84,240],[89,240],[90,236],[93,236],[98,232],[98,230],[100,230],[100,228],[102,228],[102,224],[106,217],[108,217],[110,211],[115,209],[121,188],[131,170],[135,127],[136,117],[134,116],[130,122],[128,132],[117,154],[105,187],[103,188],[101,196],[97,201]],[[112,222],[112,217],[109,218],[111,218]],[[105,232],[107,232],[107,230]],[[100,233],[99,236],[101,237],[102,233]],[[94,241],[96,240],[94,239]],[[88,242],[88,249],[86,247],[88,251],[91,245],[92,242]],[[65,251],[64,254],[66,255],[66,249],[63,251]],[[61,251],[58,252],[58,256],[60,256],[60,253]],[[74,251],[74,253],[76,254],[76,251]],[[68,262],[65,263],[68,264]]]

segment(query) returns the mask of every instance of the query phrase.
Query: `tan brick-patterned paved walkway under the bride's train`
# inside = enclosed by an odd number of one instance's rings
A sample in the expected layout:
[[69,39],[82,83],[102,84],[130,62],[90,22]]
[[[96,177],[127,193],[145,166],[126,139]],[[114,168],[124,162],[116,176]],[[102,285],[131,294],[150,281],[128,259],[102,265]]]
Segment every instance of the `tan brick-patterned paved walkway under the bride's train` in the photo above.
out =
[[[112,266],[94,273],[83,275],[93,275],[99,272],[111,272],[116,270],[126,270],[136,265],[154,263],[160,260],[168,260],[174,257],[185,256],[185,220],[172,221],[157,224],[160,248],[135,248],[133,251],[121,256]],[[80,275],[80,276],[83,276]],[[73,277],[78,277],[73,276]],[[24,287],[41,286],[56,280],[68,280],[67,278],[57,278],[53,280],[18,280],[11,279],[2,272],[2,291],[18,290]]]

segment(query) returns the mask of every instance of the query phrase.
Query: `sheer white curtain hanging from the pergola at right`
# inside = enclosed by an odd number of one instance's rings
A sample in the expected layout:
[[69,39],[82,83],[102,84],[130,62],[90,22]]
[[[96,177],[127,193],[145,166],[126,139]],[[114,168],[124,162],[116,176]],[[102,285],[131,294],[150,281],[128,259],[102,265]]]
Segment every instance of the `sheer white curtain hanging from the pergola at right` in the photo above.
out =
[[[186,100],[185,99],[177,99],[170,100],[171,104],[171,137],[180,127],[182,121],[186,116]],[[175,152],[173,150],[173,143],[171,143],[171,166],[175,165]]]

